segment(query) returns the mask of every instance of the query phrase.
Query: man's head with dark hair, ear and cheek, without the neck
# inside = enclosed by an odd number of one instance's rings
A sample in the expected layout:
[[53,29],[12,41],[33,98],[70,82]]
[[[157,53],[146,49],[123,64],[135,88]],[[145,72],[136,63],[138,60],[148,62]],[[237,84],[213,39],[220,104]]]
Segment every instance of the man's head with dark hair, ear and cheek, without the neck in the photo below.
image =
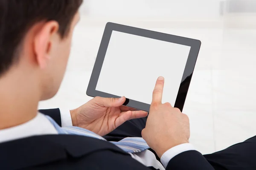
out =
[[20,75],[41,100],[54,96],[82,1],[0,0],[0,81]]

